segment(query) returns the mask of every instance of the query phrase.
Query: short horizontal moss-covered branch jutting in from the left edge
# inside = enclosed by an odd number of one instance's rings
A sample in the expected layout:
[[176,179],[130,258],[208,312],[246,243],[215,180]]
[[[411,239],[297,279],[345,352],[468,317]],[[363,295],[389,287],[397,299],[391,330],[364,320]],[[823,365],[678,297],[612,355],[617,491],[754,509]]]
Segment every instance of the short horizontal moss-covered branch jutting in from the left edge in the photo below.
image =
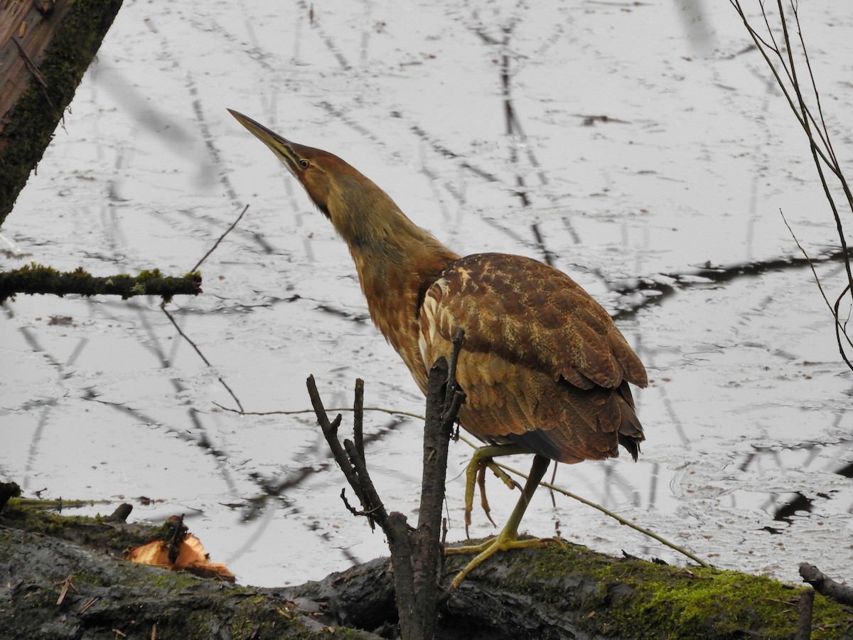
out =
[[165,301],[174,295],[201,293],[201,274],[198,271],[183,277],[164,276],[159,269],[141,271],[137,276],[96,277],[82,267],[74,271],[56,271],[32,263],[0,273],[0,303],[16,294],[119,295],[127,300],[135,295],[160,295]]

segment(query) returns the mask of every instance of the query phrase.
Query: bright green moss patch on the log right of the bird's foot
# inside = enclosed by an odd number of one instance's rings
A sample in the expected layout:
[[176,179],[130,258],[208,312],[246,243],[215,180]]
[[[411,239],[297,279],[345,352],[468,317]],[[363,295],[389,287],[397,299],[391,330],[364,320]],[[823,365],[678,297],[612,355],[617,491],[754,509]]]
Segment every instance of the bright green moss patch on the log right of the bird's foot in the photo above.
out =
[[[790,637],[805,590],[746,573],[613,558],[572,544],[519,555],[509,577],[519,591],[577,610],[591,631],[638,640]],[[552,587],[543,591],[543,583]],[[850,624],[850,612],[818,595],[813,621],[812,638],[829,640]]]

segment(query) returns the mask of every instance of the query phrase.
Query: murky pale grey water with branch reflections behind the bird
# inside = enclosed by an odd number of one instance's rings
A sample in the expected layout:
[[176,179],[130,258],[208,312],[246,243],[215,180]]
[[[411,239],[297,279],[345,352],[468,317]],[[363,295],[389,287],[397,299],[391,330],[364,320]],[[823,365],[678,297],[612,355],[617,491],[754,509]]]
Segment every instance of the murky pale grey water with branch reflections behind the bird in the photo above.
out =
[[[801,19],[850,158],[853,24],[836,6]],[[126,3],[0,261],[182,274],[248,204],[202,266],[205,293],[168,307],[210,365],[159,300],[19,297],[0,315],[0,473],[31,495],[127,500],[136,518],[185,513],[246,583],[386,551],[340,503],[310,413],[229,411],[308,409],[309,374],[329,406],[351,403],[360,376],[367,404],[422,410],[345,247],[230,107],[339,154],[460,253],[549,259],[618,311],[652,379],[636,394],[641,461],[561,466],[558,484],[718,566],[796,579],[813,561],[850,578],[850,371],[809,270],[673,279],[797,255],[780,208],[810,253],[835,239],[802,134],[728,3],[684,15],[664,0]],[[837,292],[838,265],[818,269]],[[386,504],[410,513],[417,421],[376,412],[366,429]],[[450,539],[468,455],[452,447]],[[500,521],[515,498],[490,489]],[[682,561],[554,500],[539,492],[529,531]]]

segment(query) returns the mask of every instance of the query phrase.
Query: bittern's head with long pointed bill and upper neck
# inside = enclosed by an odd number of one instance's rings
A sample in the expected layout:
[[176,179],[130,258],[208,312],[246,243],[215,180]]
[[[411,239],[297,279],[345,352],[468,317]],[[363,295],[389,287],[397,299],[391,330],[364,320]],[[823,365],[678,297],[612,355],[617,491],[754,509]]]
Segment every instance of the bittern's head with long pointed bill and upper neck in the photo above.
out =
[[287,167],[316,207],[347,241],[357,241],[365,224],[383,207],[397,210],[388,195],[338,156],[292,143],[242,113],[229,109],[241,125]]

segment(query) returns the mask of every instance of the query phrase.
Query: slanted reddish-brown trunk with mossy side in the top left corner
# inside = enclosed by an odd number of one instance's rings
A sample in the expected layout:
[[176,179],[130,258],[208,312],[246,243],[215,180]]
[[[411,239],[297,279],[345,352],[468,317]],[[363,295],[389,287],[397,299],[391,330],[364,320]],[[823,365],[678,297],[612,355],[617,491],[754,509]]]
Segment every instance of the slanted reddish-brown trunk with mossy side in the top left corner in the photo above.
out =
[[0,3],[0,225],[120,7],[121,0]]

